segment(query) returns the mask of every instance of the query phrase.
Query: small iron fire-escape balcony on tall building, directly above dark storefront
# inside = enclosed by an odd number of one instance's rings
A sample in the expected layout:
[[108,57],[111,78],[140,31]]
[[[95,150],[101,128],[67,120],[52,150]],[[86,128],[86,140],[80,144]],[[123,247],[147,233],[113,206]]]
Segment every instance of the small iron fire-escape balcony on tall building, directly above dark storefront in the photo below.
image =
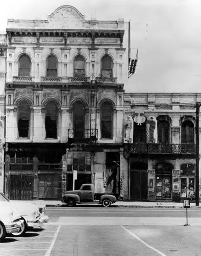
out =
[[69,142],[86,142],[97,140],[97,129],[68,129],[68,140]]

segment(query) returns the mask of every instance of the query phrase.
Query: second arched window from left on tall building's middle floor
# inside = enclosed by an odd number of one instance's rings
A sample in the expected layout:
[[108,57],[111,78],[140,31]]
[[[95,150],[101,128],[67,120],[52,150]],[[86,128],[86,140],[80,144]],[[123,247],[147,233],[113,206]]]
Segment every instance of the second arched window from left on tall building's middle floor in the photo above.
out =
[[45,106],[45,131],[46,138],[57,138],[58,108],[55,101],[48,101]]

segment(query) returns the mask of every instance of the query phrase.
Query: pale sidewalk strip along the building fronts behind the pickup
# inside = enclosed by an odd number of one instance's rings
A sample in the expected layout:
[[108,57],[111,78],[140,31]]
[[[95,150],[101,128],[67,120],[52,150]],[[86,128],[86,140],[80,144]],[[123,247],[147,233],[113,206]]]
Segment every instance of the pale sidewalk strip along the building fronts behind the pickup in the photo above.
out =
[[[59,200],[33,200],[33,201],[16,201],[15,202],[29,202],[37,205],[45,205],[46,207],[58,207],[65,206],[65,203],[62,203]],[[82,204],[83,205],[83,204]],[[92,204],[86,204],[92,205]],[[95,204],[99,205],[99,204]],[[174,203],[174,202],[133,202],[133,201],[117,201],[112,204],[112,207],[130,207],[130,208],[183,208],[184,203]],[[190,207],[192,208],[201,208],[201,202],[199,206],[196,206],[195,203],[190,203]]]

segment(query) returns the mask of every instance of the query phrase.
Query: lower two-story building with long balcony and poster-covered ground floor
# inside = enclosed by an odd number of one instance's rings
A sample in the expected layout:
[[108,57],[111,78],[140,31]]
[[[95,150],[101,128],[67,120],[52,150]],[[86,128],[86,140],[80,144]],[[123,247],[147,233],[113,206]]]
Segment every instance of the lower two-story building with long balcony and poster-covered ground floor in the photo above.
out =
[[124,94],[125,111],[132,120],[131,143],[124,144],[130,200],[195,199],[195,103],[200,97],[198,93]]

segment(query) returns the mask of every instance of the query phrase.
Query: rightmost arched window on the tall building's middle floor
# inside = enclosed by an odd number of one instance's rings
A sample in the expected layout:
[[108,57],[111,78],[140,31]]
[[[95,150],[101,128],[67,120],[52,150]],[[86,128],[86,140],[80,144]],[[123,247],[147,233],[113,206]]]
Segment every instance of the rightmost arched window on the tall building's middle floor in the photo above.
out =
[[109,101],[101,105],[101,135],[102,138],[112,139],[113,108]]

